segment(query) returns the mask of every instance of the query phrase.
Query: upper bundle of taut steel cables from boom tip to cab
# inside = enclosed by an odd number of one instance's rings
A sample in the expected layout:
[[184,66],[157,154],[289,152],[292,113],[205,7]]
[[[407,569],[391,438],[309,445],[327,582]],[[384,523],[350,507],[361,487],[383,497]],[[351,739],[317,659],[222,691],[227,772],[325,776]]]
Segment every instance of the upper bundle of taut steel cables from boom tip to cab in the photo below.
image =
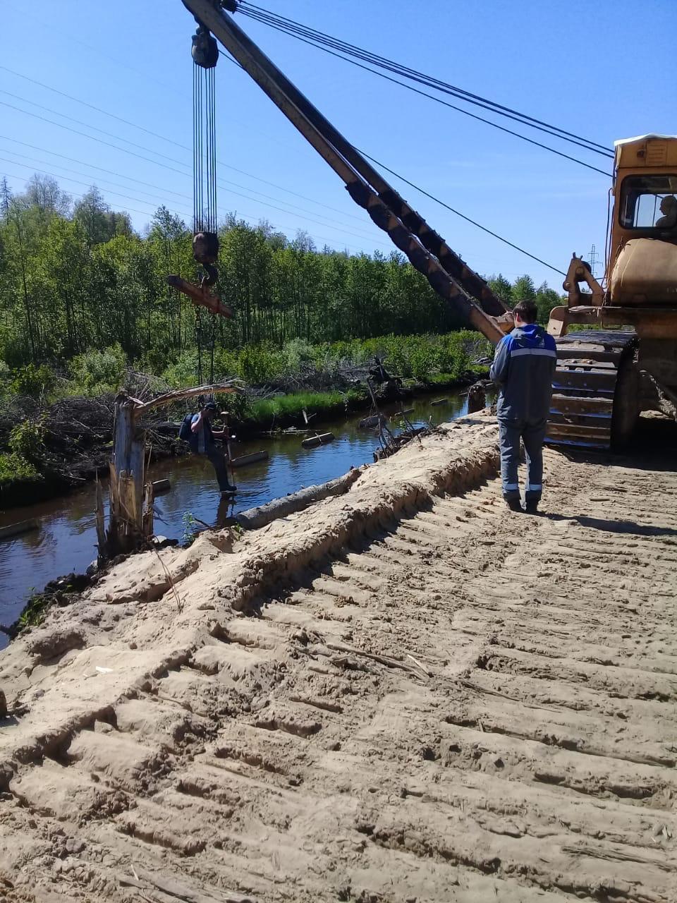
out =
[[451,85],[449,82],[433,78],[432,76],[426,75],[423,72],[414,70],[408,66],[404,66],[402,63],[397,63],[393,60],[388,59],[387,57],[374,53],[373,51],[366,51],[361,47],[357,47],[357,45],[355,44],[342,41],[338,38],[333,37],[332,35],[320,32],[317,29],[313,29],[308,25],[303,25],[302,23],[295,22],[293,19],[288,19],[285,16],[272,13],[270,10],[266,10],[262,6],[257,6],[244,0],[244,2],[240,5],[240,12],[246,16],[249,16],[250,18],[255,19],[258,22],[267,24],[270,27],[277,29],[278,31],[283,31],[291,35],[292,37],[302,36],[303,38],[308,39],[306,42],[313,43],[320,50],[325,50],[327,47],[332,47],[334,50],[348,53],[348,55],[350,56],[354,56],[363,61],[370,62],[373,65],[379,66],[380,68],[390,70],[397,75],[403,76],[406,79],[417,81],[421,84],[427,85],[430,88],[441,90],[444,93],[452,95],[453,97],[464,100],[469,104],[474,104],[478,107],[490,110],[499,116],[506,116],[507,118],[513,119],[516,122],[522,123],[524,126],[536,128],[539,131],[543,131],[549,135],[553,135],[554,137],[561,138],[561,140],[563,141],[569,141],[572,144],[578,144],[580,147],[592,151],[593,153],[603,154],[607,157],[613,157],[613,153],[609,150],[608,147],[603,144],[598,144],[598,142],[592,141],[589,138],[585,138],[582,135],[577,135],[576,133],[567,131],[566,129],[563,129],[559,126],[552,126],[551,123],[544,122],[542,119],[537,119],[534,116],[528,116],[527,114],[515,110],[512,107],[506,107],[503,104],[496,103],[496,101],[494,100],[484,98],[481,95],[467,91],[464,88],[459,88],[456,85]]

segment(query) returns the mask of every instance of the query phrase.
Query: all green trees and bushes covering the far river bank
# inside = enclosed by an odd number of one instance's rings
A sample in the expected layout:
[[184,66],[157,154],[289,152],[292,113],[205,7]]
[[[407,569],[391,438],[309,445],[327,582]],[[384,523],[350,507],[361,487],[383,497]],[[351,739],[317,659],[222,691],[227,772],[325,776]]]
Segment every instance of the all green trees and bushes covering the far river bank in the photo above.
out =
[[[42,493],[87,479],[107,459],[112,395],[206,381],[212,341],[215,380],[250,389],[231,414],[265,428],[359,405],[376,355],[403,380],[453,382],[492,354],[399,252],[350,256],[234,215],[219,227],[219,291],[236,316],[211,318],[167,283],[196,279],[191,238],[164,207],[141,236],[96,188],[73,204],[49,176],[21,195],[0,181],[5,499],[25,481]],[[561,303],[528,275],[489,283],[508,304],[533,298],[542,319]]]

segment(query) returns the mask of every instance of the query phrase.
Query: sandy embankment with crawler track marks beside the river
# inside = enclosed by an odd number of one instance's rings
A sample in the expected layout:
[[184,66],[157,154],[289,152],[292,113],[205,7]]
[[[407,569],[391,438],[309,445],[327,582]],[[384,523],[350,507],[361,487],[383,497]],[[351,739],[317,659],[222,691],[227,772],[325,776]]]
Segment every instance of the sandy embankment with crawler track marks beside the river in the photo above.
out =
[[677,899],[677,474],[546,470],[507,512],[479,415],[53,612],[0,662],[0,897]]

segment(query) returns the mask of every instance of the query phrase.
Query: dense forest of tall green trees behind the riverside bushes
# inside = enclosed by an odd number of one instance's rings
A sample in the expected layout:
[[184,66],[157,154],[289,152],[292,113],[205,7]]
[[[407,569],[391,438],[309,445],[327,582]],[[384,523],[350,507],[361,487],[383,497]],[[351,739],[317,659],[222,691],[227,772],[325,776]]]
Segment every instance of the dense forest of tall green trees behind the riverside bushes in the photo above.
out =
[[[23,194],[0,183],[0,368],[57,367],[92,349],[121,349],[162,374],[210,343],[209,314],[196,316],[167,275],[196,276],[191,233],[166,208],[144,235],[96,187],[77,202],[49,176]],[[443,333],[463,324],[402,255],[349,256],[289,240],[262,222],[227,216],[220,227],[220,293],[236,311],[218,318],[218,349],[279,348],[395,334]],[[506,302],[533,298],[542,319],[560,296],[524,275],[490,279]]]

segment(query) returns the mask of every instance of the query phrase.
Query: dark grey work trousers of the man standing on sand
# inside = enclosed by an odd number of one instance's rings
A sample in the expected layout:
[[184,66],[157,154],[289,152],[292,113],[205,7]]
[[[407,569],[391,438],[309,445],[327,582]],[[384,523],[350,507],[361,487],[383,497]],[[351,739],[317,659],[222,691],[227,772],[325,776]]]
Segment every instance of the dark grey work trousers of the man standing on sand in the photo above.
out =
[[503,498],[520,497],[517,466],[520,460],[520,439],[524,442],[526,458],[526,487],[524,501],[538,501],[543,490],[543,440],[547,420],[515,420],[499,418],[498,435],[501,448],[501,482]]

